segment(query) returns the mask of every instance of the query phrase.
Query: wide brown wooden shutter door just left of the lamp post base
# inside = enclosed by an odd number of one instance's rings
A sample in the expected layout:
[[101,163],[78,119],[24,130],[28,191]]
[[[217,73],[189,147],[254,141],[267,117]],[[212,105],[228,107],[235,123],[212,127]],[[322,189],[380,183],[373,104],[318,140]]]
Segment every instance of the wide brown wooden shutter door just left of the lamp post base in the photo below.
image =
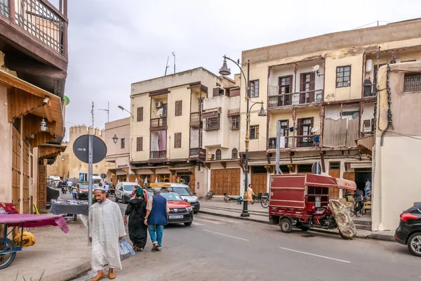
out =
[[213,169],[210,170],[210,190],[213,195],[239,195],[240,169]]

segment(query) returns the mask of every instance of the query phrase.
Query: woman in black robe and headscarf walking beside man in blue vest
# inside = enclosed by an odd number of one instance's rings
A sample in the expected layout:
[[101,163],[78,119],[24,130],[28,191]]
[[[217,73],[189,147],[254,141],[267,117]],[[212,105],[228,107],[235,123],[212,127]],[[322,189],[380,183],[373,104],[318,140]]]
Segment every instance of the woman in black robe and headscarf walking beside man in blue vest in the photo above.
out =
[[142,188],[136,188],[135,197],[127,205],[124,223],[128,217],[128,236],[133,243],[133,249],[142,251],[147,241],[147,226],[145,226],[146,200]]

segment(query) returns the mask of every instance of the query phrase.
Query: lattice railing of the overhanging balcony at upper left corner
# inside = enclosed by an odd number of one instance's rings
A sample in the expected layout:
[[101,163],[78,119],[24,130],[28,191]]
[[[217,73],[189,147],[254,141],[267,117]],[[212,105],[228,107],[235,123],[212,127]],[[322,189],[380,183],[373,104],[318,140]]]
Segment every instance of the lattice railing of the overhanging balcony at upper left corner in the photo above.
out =
[[[14,15],[11,12],[15,11]],[[67,55],[67,20],[46,0],[0,0],[0,15],[60,55]],[[13,22],[13,21],[12,21]],[[13,24],[13,23],[12,23]]]

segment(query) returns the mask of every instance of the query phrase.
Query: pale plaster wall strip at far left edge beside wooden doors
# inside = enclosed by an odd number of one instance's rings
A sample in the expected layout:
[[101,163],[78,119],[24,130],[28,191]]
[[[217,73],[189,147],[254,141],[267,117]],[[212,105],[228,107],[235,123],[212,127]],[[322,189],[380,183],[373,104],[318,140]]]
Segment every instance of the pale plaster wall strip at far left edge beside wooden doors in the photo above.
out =
[[12,124],[7,107],[6,87],[0,86],[0,202],[12,202]]

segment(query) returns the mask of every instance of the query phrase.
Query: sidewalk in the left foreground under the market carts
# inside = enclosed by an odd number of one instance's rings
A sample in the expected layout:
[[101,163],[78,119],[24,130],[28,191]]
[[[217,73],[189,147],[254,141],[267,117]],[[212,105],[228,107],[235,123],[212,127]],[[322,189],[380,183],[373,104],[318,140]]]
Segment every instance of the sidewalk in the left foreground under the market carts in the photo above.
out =
[[[55,226],[29,228],[35,235],[35,244],[16,253],[15,261],[0,270],[1,281],[69,280],[91,268],[91,249],[87,230],[81,219],[69,222],[69,233]],[[32,278],[32,279],[31,279]]]

